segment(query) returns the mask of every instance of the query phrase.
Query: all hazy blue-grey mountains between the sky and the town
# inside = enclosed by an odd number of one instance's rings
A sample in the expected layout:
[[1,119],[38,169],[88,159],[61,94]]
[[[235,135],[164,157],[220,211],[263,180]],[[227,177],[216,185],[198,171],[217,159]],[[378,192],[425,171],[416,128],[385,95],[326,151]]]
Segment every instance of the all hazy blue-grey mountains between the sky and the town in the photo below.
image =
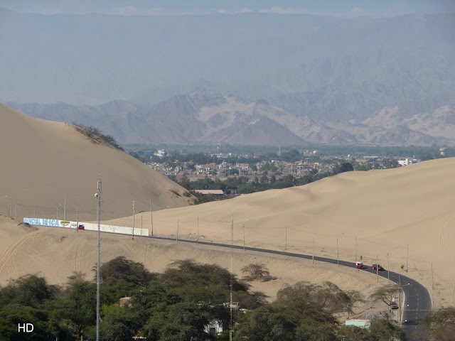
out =
[[454,144],[454,13],[0,18],[0,101],[122,143]]

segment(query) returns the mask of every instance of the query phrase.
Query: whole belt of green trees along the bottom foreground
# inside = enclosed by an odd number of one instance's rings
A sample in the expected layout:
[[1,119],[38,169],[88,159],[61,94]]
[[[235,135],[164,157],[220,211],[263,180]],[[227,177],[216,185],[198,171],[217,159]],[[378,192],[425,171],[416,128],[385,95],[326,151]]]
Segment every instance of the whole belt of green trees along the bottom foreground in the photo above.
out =
[[[231,276],[226,269],[186,259],[174,261],[162,274],[154,274],[120,256],[102,264],[100,270],[101,340],[229,340],[230,309],[223,303],[230,301]],[[245,277],[241,280],[232,277],[233,301],[248,309],[245,314],[234,315],[236,341],[404,337],[387,316],[372,320],[370,330],[341,326],[335,314],[353,313],[355,305],[364,301],[358,291],[343,291],[330,282],[299,282],[285,286],[276,301],[267,303],[267,296],[250,291],[247,283],[273,280],[267,267],[250,264],[242,272]],[[131,299],[121,307],[119,298],[125,296]],[[33,323],[33,340],[94,340],[95,297],[95,281],[81,273],[70,276],[65,286],[50,285],[36,275],[11,281],[0,288],[1,340],[31,340],[31,335],[18,333],[18,323]],[[432,313],[426,320],[437,340],[449,340],[438,332],[447,325],[453,330],[452,310]],[[207,331],[213,320],[223,325],[221,335]]]

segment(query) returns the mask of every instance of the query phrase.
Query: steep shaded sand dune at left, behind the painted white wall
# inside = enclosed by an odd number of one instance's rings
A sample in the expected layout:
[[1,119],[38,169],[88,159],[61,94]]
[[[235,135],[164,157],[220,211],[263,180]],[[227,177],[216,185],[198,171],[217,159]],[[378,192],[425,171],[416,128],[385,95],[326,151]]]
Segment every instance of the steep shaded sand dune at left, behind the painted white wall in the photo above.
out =
[[[96,217],[94,193],[102,177],[102,217],[188,205],[184,189],[127,153],[93,144],[68,125],[29,117],[0,104],[0,214],[63,219]],[[8,195],[8,197],[6,197]],[[17,205],[16,205],[17,202]],[[17,207],[17,214],[16,214]]]

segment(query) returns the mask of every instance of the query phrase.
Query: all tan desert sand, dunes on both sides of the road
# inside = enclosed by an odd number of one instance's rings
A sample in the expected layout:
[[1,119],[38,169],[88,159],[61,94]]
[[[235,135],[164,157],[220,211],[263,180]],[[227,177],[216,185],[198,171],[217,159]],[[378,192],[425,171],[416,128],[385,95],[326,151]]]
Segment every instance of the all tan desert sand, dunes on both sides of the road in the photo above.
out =
[[[62,215],[59,205],[68,193],[68,207],[73,205],[68,219],[74,219],[74,206],[80,205],[82,214],[86,214],[80,219],[95,220],[93,193],[98,173],[103,180],[105,223],[132,226],[132,200],[136,202],[137,227],[143,224],[151,228],[151,213],[146,212],[150,199],[154,211],[170,207],[153,212],[154,234],[168,237],[170,240],[163,242],[168,244],[159,247],[160,242],[144,239],[145,244],[139,245],[137,238],[133,241],[128,236],[103,234],[103,260],[125,255],[144,261],[151,271],[164,269],[177,257],[219,262],[228,268],[225,251],[202,245],[183,246],[175,239],[178,232],[178,239],[199,237],[230,244],[233,222],[237,245],[245,240],[245,245],[251,247],[305,254],[314,251],[316,256],[334,259],[339,254],[340,259],[362,259],[368,266],[378,257],[382,266],[402,273],[408,264],[407,276],[434,293],[436,308],[455,305],[455,158],[390,170],[342,173],[301,187],[188,206],[188,198],[171,192],[183,193],[181,187],[125,153],[92,144],[68,125],[32,119],[4,106],[0,107],[0,119],[1,215],[17,212],[20,221],[22,215],[34,213],[33,206],[40,210],[36,209],[37,217],[54,217],[56,207]],[[11,196],[18,202],[17,211],[12,209],[14,201],[9,205]],[[29,272],[39,272],[51,283],[64,283],[73,271],[90,272],[94,265],[92,232],[45,227],[23,231],[17,223],[11,225],[9,219],[1,220],[0,229],[0,283]],[[175,245],[170,248],[170,244]],[[156,248],[155,261],[148,260],[150,248]],[[241,250],[236,252],[240,252],[235,262],[238,272],[249,259]],[[161,254],[163,258],[159,259]],[[349,287],[355,285],[363,291],[368,291],[362,287],[365,283],[375,285],[375,276],[342,266],[300,266],[308,261],[256,257],[269,266],[274,276],[284,278],[273,289],[258,285],[271,296],[288,281],[308,278],[330,278],[342,288],[349,283]]]

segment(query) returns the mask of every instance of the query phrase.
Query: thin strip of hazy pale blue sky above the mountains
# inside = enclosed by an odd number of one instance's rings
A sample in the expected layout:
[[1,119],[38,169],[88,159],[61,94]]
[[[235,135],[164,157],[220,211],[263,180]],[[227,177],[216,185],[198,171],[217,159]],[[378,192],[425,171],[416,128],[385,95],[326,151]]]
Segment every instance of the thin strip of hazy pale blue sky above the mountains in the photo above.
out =
[[0,7],[43,14],[122,15],[238,12],[310,13],[327,16],[400,16],[455,12],[454,0],[0,0]]

